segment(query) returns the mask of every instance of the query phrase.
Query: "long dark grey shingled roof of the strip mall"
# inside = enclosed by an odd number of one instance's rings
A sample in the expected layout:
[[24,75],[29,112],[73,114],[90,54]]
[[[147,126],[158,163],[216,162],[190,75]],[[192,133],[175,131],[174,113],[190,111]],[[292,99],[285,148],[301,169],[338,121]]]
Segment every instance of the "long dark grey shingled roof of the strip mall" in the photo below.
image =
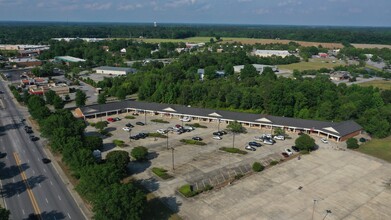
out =
[[136,109],[147,110],[156,112],[167,112],[178,115],[190,115],[208,117],[212,119],[221,119],[227,121],[239,121],[249,123],[262,123],[273,126],[284,126],[295,129],[307,129],[307,130],[319,130],[325,133],[333,134],[335,136],[345,136],[347,134],[359,131],[362,129],[356,122],[343,121],[343,122],[329,122],[329,121],[317,121],[308,119],[298,119],[290,117],[272,116],[266,114],[251,114],[243,112],[232,112],[225,110],[206,109],[206,108],[194,108],[183,105],[164,104],[164,103],[151,103],[151,102],[139,102],[139,101],[123,101],[113,102],[103,105],[91,105],[81,107],[81,111],[84,116],[94,115],[99,112],[116,111],[123,109]]

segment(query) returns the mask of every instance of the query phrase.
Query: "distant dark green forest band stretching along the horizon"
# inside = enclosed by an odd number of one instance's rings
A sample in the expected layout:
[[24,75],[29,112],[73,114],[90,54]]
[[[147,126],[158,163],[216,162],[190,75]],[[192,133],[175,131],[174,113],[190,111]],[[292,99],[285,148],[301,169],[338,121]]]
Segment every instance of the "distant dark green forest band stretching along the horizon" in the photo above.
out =
[[0,22],[0,44],[45,44],[55,37],[146,38],[246,37],[314,42],[391,44],[391,29],[197,24]]

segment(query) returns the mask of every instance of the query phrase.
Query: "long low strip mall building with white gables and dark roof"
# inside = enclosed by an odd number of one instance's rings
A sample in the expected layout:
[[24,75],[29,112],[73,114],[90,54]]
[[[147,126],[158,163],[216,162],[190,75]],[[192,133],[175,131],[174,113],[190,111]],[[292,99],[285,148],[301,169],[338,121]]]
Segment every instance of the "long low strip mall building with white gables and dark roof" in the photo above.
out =
[[145,114],[145,116],[160,115],[161,117],[178,119],[188,116],[193,121],[208,123],[229,124],[230,122],[238,121],[244,127],[248,128],[270,130],[281,128],[287,133],[304,132],[311,135],[326,137],[337,142],[345,141],[362,132],[362,127],[352,120],[327,122],[130,100],[103,105],[90,105],[75,110],[75,115],[84,119],[120,113],[139,113]]

